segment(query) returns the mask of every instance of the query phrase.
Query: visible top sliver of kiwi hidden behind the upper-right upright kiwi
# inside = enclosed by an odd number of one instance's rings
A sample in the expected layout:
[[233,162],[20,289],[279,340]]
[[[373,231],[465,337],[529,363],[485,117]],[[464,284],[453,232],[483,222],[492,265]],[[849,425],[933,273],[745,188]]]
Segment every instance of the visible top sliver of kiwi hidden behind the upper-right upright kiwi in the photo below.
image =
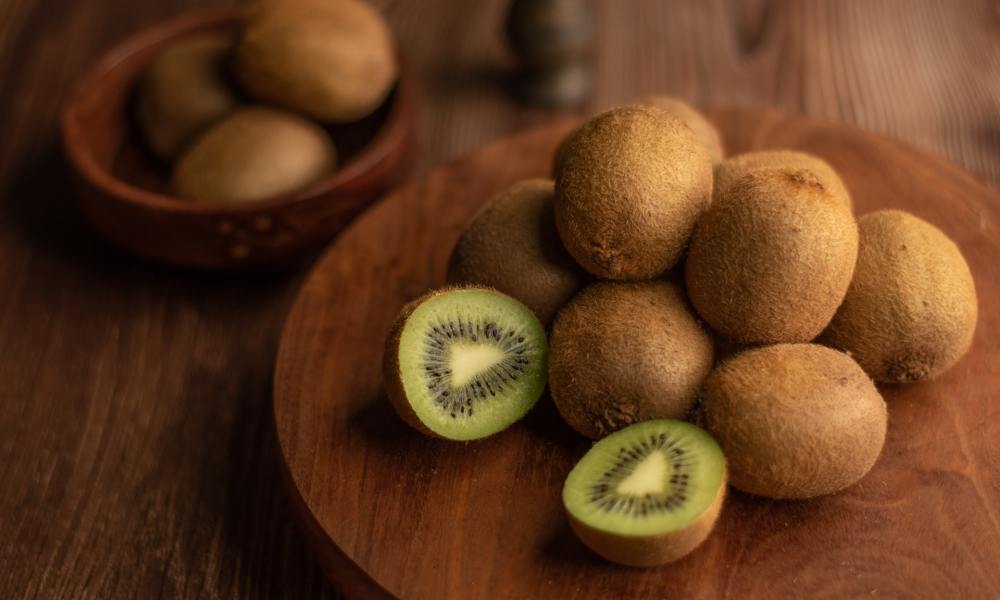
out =
[[761,150],[732,156],[715,168],[715,188],[713,195],[720,198],[734,183],[747,173],[765,169],[805,169],[811,171],[823,186],[840,198],[848,208],[853,202],[840,175],[818,156],[798,150]]

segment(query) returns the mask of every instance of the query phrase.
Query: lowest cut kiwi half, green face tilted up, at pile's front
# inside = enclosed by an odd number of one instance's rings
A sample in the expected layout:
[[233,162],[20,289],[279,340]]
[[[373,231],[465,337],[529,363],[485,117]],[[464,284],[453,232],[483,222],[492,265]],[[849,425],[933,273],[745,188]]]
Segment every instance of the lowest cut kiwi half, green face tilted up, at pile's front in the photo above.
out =
[[566,478],[563,505],[591,550],[650,567],[704,542],[725,495],[726,461],[712,436],[690,423],[658,420],[594,444]]

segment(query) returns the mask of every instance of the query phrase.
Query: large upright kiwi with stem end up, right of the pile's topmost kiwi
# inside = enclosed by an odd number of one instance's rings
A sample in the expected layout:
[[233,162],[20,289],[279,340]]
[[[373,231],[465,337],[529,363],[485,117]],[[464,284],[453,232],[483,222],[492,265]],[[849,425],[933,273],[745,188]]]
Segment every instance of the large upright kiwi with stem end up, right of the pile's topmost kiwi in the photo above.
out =
[[753,171],[699,222],[687,292],[701,318],[732,341],[810,341],[844,299],[857,252],[850,208],[813,171]]

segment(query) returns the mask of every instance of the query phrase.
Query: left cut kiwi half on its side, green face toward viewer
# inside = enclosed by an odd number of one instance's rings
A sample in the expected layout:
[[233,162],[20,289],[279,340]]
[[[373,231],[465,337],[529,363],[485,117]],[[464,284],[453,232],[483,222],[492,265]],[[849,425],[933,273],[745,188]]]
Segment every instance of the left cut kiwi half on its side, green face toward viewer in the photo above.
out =
[[406,305],[386,340],[389,400],[417,430],[475,440],[509,427],[545,389],[545,329],[495,290],[445,288]]

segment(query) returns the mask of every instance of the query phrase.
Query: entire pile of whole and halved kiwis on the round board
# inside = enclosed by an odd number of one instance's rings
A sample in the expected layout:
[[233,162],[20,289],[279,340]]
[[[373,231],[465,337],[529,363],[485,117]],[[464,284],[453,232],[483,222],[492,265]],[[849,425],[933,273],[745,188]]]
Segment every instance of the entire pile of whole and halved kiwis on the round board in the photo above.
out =
[[688,555],[730,486],[854,485],[886,439],[876,382],[937,377],[972,343],[958,246],[903,211],[856,218],[819,157],[725,158],[702,114],[654,97],[589,119],[552,164],[472,218],[383,374],[399,415],[448,440],[502,431],[547,388],[595,440],[562,500],[610,561]]

